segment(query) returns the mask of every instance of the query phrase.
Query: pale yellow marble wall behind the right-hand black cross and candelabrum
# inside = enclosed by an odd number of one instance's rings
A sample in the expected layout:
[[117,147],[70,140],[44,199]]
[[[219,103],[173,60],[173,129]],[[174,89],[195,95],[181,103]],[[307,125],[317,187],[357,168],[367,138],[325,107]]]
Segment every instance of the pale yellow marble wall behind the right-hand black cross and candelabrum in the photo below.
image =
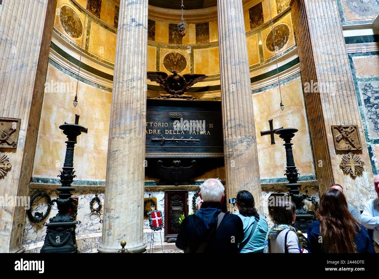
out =
[[301,78],[281,85],[285,106],[280,110],[279,87],[253,94],[255,131],[257,136],[258,158],[261,179],[284,177],[285,149],[283,140],[275,135],[276,144],[271,144],[270,135],[261,136],[261,131],[270,129],[269,120],[273,119],[274,129],[294,127],[299,131],[293,139],[293,154],[296,167],[301,176],[314,175],[313,155],[305,117]]

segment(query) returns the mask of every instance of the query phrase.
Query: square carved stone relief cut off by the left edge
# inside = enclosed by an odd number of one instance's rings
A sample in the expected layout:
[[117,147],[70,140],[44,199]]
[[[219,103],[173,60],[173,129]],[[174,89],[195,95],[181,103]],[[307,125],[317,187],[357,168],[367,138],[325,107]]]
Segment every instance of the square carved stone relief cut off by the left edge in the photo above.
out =
[[19,118],[0,118],[0,148],[17,148],[20,122]]

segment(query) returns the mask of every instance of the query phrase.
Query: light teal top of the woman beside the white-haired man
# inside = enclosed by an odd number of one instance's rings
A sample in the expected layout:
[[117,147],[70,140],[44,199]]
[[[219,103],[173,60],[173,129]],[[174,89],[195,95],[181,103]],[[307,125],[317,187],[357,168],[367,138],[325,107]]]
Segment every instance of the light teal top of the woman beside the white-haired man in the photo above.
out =
[[[240,217],[243,222],[244,237],[241,243],[245,243],[245,240],[251,235],[251,230],[253,229],[255,222],[255,216],[245,217],[239,212],[236,212],[235,215]],[[263,253],[263,247],[265,245],[265,239],[268,232],[268,224],[264,216],[259,215],[259,217],[260,219],[254,234],[250,237],[250,240],[247,241],[240,253]]]

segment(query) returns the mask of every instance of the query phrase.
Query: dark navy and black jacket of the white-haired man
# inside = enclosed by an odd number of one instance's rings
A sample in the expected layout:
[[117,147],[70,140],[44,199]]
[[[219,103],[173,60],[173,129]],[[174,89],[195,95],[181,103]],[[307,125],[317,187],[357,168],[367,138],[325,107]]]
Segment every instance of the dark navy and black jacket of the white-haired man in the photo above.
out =
[[217,226],[220,212],[221,203],[202,203],[199,211],[184,218],[176,246],[182,250],[188,248],[189,253],[196,253],[206,241],[208,244],[204,253],[238,253],[238,243],[243,239],[242,220],[227,212],[218,229],[213,230]]

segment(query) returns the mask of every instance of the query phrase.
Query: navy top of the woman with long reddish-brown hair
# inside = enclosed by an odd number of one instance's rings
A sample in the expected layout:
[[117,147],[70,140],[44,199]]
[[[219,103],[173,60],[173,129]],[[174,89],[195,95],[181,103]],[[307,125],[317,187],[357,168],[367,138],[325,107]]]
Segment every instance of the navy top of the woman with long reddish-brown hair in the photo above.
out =
[[[317,220],[309,225],[307,230],[307,246],[309,253],[324,253],[319,236],[320,233],[320,221]],[[356,239],[354,243],[357,246],[357,253],[375,253],[374,245],[368,236],[365,227],[360,225],[360,230],[357,231]]]

